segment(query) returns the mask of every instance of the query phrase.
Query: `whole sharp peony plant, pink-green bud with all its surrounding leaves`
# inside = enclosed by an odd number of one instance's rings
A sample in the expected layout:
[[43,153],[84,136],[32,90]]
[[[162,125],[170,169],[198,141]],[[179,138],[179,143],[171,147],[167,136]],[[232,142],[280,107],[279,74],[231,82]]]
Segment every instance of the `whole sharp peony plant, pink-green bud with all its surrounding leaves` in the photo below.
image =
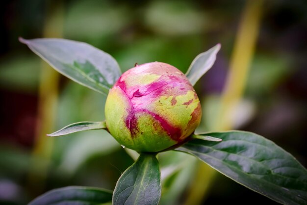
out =
[[55,70],[107,95],[105,121],[79,122],[49,136],[107,130],[139,157],[114,191],[91,187],[55,189],[30,205],[54,203],[157,205],[161,174],[156,154],[192,154],[225,176],[281,204],[306,204],[307,170],[272,141],[244,131],[194,133],[201,105],[193,85],[213,65],[220,45],[199,54],[187,73],[160,62],[135,65],[121,75],[117,62],[88,44],[64,39],[20,39]]

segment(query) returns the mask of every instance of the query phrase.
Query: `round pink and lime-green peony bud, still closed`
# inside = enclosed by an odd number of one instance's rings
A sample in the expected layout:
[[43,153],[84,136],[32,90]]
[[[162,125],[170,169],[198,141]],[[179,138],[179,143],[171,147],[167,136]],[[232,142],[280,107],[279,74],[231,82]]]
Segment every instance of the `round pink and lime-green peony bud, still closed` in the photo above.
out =
[[106,126],[123,146],[159,152],[198,127],[201,105],[193,86],[174,66],[153,62],[125,72],[105,104]]

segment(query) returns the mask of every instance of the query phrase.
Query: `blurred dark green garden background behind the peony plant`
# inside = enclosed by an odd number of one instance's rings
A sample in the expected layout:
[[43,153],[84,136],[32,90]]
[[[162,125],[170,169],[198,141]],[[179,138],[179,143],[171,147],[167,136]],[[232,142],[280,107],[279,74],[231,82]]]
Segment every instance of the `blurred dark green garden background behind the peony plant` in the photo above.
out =
[[[57,74],[19,36],[89,43],[123,72],[153,61],[186,72],[221,43],[195,85],[198,131],[253,131],[307,166],[306,0],[2,0],[0,17],[0,204],[68,185],[113,189],[134,157],[104,130],[46,136],[104,120],[105,96]],[[187,154],[159,161],[161,205],[275,204]]]

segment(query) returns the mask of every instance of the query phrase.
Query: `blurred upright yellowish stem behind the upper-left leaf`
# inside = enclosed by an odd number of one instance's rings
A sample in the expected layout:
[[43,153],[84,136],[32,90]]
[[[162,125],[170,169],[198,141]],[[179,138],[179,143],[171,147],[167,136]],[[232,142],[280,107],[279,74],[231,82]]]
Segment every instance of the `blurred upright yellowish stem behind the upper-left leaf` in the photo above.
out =
[[[63,25],[63,5],[61,1],[47,3],[44,37],[61,37]],[[52,5],[52,6],[51,6]],[[28,182],[34,194],[44,192],[45,180],[51,165],[54,138],[47,137],[53,131],[57,110],[59,74],[42,61],[39,83],[38,122],[36,139],[32,150]]]

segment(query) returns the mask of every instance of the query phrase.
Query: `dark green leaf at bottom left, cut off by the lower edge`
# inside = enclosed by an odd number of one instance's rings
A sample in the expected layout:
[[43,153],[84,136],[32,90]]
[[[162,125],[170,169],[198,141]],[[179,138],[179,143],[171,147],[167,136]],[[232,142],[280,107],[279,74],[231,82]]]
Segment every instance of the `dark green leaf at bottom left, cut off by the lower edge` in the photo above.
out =
[[112,191],[82,186],[67,186],[53,189],[29,205],[100,205],[112,200]]

